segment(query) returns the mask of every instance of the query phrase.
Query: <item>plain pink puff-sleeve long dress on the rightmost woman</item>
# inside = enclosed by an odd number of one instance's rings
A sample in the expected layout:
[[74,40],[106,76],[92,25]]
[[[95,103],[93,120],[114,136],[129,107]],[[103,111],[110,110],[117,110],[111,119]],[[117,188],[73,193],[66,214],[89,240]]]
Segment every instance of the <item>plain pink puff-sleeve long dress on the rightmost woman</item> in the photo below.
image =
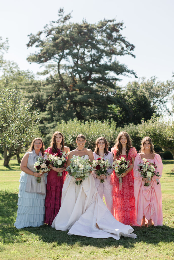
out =
[[137,165],[143,162],[141,154],[138,153],[134,161],[134,196],[136,209],[136,223],[141,226],[141,220],[145,216],[146,220],[152,219],[154,226],[163,225],[162,213],[162,194],[161,184],[157,184],[156,179],[160,179],[163,170],[163,163],[159,154],[155,154],[153,160],[148,161],[156,164],[159,177],[153,177],[150,181],[150,186],[144,186],[144,181],[140,172],[137,171]]

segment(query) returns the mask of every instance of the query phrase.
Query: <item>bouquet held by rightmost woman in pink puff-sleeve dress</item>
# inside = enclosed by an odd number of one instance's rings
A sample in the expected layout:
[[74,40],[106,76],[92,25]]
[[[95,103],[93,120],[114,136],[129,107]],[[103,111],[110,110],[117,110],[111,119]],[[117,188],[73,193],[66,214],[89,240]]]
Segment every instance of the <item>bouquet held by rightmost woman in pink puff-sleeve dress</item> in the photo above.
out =
[[[151,180],[153,176],[156,177],[160,176],[159,172],[155,171],[155,169],[157,168],[155,164],[149,162],[146,158],[143,158],[142,160],[143,162],[137,165],[139,167],[137,171],[140,172],[143,178],[147,178],[148,180]],[[156,182],[157,184],[159,184],[158,178],[156,179]],[[144,186],[149,186],[149,183],[145,182]]]

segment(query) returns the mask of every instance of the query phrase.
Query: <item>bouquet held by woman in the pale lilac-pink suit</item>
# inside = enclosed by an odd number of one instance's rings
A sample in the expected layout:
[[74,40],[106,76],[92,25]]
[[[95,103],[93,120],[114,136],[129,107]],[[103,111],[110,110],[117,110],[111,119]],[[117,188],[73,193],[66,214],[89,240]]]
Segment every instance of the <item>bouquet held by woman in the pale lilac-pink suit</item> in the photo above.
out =
[[[104,159],[98,158],[97,160],[93,160],[92,167],[96,170],[95,173],[100,176],[104,174],[107,176],[107,170],[111,168],[111,164],[108,159],[106,161]],[[105,182],[105,180],[100,180],[100,182]]]

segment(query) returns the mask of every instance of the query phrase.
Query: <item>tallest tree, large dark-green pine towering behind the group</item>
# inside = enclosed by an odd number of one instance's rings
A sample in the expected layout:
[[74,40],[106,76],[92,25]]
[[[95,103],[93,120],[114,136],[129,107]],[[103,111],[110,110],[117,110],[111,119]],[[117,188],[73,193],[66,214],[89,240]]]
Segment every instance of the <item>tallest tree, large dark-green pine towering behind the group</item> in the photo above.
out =
[[[103,20],[89,24],[71,23],[71,14],[59,11],[59,19],[36,35],[27,47],[38,51],[27,60],[45,65],[42,74],[48,105],[43,115],[48,123],[69,120],[111,119],[119,121],[122,109],[129,110],[116,86],[120,75],[135,73],[117,60],[131,55],[134,46],[122,36],[123,23]],[[136,76],[136,75],[135,75]],[[118,113],[110,105],[118,107]],[[121,108],[119,110],[119,108]]]

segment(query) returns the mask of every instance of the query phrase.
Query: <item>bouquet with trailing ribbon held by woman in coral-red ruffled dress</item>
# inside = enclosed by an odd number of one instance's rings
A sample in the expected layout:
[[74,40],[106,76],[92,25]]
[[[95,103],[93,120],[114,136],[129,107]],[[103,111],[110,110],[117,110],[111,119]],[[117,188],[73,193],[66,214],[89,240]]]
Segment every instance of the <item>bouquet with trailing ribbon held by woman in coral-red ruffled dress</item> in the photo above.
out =
[[[129,165],[129,160],[126,161],[126,159],[124,157],[121,157],[118,160],[115,160],[112,164],[112,169],[118,174],[121,175],[122,173],[126,172],[128,169],[128,165]],[[119,187],[121,190],[122,187],[122,177],[119,177]]]

